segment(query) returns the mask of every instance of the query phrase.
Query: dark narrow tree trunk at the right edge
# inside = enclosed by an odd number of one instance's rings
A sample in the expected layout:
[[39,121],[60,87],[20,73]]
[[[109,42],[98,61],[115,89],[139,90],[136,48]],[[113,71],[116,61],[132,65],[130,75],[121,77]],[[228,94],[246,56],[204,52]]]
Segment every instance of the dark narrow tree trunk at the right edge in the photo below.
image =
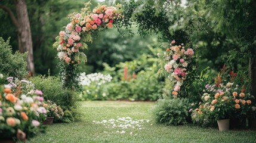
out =
[[[256,49],[254,48],[254,55],[256,56]],[[251,95],[256,97],[256,57],[251,57],[249,60],[249,77],[251,79]]]

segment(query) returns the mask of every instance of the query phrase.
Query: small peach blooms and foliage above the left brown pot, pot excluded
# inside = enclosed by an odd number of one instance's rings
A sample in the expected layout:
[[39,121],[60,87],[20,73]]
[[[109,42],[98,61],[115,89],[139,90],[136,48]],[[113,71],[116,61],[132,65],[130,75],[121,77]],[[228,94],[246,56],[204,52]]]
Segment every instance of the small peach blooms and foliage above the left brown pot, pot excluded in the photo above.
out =
[[55,117],[61,119],[64,116],[63,110],[60,105],[56,105],[53,101],[44,101],[43,106],[47,110],[47,117]]

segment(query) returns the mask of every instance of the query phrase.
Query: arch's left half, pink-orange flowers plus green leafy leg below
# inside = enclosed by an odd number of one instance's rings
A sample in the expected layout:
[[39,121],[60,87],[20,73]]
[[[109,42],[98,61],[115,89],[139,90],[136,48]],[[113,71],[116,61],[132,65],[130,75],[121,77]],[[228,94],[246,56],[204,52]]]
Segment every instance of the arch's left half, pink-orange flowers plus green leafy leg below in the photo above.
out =
[[87,42],[92,42],[92,35],[103,29],[112,28],[124,16],[122,15],[122,5],[107,7],[98,5],[92,11],[90,2],[85,3],[81,13],[69,15],[70,23],[64,31],[59,33],[53,47],[57,49],[60,68],[60,77],[64,88],[79,90],[78,65],[87,61],[87,56],[79,49],[87,49]]

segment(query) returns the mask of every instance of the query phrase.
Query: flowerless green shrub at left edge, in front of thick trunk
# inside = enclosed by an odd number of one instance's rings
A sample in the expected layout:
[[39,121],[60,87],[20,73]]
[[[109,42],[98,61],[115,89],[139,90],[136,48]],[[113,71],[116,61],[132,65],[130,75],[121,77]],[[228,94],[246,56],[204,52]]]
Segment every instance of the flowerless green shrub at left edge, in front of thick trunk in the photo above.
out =
[[5,76],[21,78],[27,74],[27,52],[21,54],[16,51],[13,54],[9,42],[10,38],[5,42],[4,39],[0,37],[0,73]]

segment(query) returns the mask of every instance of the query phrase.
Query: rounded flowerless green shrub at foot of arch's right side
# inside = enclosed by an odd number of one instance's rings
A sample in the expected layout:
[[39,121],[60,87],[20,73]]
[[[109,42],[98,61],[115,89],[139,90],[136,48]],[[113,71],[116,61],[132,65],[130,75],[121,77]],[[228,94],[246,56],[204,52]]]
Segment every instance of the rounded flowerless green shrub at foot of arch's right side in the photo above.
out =
[[153,118],[156,123],[165,125],[183,125],[189,120],[190,104],[184,98],[164,98],[153,107]]

